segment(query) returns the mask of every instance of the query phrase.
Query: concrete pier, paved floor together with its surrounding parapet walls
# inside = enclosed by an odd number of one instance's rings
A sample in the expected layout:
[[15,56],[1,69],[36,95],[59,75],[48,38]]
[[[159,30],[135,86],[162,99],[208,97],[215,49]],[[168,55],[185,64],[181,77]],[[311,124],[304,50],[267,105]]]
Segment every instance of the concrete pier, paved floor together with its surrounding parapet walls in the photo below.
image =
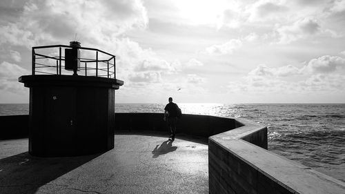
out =
[[[140,193],[141,189],[144,193],[345,193],[344,182],[266,150],[267,128],[264,126],[238,118],[184,115],[179,120],[177,139],[187,140],[188,144],[179,140],[169,144],[162,117],[163,114],[159,113],[117,113],[115,150],[102,155],[52,159],[31,157],[25,153],[28,148],[25,142],[27,140],[1,142],[0,156],[3,159],[0,159],[0,182],[6,185],[0,185],[0,188],[10,189],[19,185],[34,186],[41,193],[99,193],[98,190],[92,190],[97,188],[98,183],[106,193],[116,193],[117,189],[125,193]],[[23,124],[23,128],[25,127],[27,124]],[[140,134],[137,133],[138,130],[141,130]],[[151,134],[147,134],[149,132]],[[119,135],[124,139],[119,138]],[[17,152],[13,152],[16,150]],[[151,158],[164,160],[158,162]],[[30,159],[36,161],[35,165],[25,169],[20,166]],[[207,160],[207,164],[204,163]],[[88,166],[91,164],[96,166]],[[208,171],[205,170],[207,166]],[[7,168],[12,170],[5,171]],[[90,168],[97,168],[97,171],[90,171]],[[33,183],[26,182],[29,175],[35,175]],[[8,179],[12,180],[9,182]],[[104,186],[104,182],[108,180],[110,182],[106,185],[113,185],[113,190]],[[11,184],[18,181],[24,184]],[[207,183],[206,188],[203,185]],[[152,191],[151,186],[154,188]],[[41,188],[46,190],[40,190]]]

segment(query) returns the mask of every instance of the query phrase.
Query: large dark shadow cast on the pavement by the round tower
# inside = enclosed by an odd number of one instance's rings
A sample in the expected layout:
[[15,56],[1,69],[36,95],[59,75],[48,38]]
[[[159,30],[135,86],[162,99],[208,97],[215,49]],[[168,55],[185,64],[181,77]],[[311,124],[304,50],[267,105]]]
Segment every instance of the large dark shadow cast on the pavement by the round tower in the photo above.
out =
[[0,159],[0,193],[35,193],[101,154],[77,157],[34,157],[28,152]]

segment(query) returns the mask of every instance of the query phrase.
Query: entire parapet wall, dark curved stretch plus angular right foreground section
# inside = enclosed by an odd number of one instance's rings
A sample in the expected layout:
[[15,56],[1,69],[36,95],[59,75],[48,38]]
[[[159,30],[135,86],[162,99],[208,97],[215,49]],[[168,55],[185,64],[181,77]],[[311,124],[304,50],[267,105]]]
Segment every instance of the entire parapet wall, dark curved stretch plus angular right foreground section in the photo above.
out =
[[[0,121],[25,119],[8,117]],[[116,113],[115,126],[116,130],[168,130],[162,118],[159,113]],[[183,115],[177,127],[179,132],[210,136],[210,193],[345,193],[344,182],[267,151],[264,126],[245,119]]]

